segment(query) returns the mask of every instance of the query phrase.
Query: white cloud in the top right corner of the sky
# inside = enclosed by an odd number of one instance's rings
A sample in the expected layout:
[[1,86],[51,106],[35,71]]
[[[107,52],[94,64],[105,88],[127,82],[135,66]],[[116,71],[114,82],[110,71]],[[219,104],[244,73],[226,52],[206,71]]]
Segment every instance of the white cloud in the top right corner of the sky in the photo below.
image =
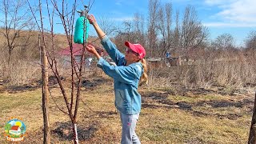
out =
[[205,0],[209,6],[218,6],[221,9],[215,17],[230,23],[244,23],[255,25],[256,1],[252,0]]

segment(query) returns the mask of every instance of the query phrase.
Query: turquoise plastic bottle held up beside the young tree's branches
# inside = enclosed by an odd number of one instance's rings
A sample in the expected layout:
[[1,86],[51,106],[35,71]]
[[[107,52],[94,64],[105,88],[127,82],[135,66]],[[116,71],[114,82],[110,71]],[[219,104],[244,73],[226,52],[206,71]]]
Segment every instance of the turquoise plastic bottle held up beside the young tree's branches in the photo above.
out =
[[74,43],[82,44],[83,42],[87,42],[90,24],[88,19],[85,17],[86,11],[78,11],[78,13],[81,15],[75,22]]

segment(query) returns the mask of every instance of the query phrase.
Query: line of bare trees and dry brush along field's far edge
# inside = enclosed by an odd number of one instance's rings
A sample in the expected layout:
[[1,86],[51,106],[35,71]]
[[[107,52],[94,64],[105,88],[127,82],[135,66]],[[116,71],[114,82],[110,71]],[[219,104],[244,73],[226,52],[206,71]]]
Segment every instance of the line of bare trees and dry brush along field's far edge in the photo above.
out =
[[[38,30],[25,0],[1,0],[0,75],[7,85],[21,85],[39,79]],[[171,3],[149,0],[148,15],[134,14],[134,20],[114,26],[110,19],[99,18],[102,29],[110,34],[118,47],[123,42],[139,42],[146,47],[146,57],[165,58],[166,52],[181,56],[193,65],[150,70],[150,85],[158,85],[162,75],[166,84],[179,82],[185,86],[248,86],[256,82],[254,66],[256,32],[245,38],[244,46],[235,46],[231,34],[210,39],[210,32],[198,19],[192,6],[176,10]],[[54,36],[56,50],[68,44],[65,36]],[[163,72],[168,71],[166,74]],[[161,80],[162,81],[162,80]]]

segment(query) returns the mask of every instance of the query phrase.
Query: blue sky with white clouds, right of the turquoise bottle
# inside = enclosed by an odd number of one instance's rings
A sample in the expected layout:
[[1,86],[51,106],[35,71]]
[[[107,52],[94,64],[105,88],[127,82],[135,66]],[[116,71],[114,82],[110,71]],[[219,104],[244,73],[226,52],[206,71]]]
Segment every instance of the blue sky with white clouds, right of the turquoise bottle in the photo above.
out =
[[[91,0],[93,2],[93,0]],[[186,6],[194,6],[198,20],[210,30],[210,38],[231,34],[242,46],[250,31],[256,30],[255,0],[162,0],[170,2],[182,14]],[[86,2],[85,2],[86,3]],[[89,3],[89,1],[87,2]],[[115,22],[132,20],[135,13],[148,15],[148,0],[95,0],[90,13]]]

